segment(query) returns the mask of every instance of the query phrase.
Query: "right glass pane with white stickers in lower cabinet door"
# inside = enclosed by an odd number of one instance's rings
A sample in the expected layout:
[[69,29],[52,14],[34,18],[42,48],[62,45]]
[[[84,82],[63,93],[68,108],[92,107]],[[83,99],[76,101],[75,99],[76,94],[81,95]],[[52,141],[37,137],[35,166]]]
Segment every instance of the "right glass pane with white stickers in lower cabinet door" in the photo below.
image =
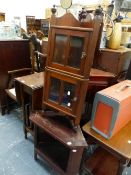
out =
[[74,98],[75,85],[64,82],[64,92],[62,96],[62,105],[71,108],[72,99]]

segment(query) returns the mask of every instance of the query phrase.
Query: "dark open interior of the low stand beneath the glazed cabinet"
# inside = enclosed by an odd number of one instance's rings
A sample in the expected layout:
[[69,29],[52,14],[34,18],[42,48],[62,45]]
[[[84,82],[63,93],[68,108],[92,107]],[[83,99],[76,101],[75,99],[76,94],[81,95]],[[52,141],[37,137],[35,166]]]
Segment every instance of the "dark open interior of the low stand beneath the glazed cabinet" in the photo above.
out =
[[57,167],[59,167],[63,172],[66,172],[70,149],[63,146],[63,144],[58,142],[58,140],[47,135],[47,133],[43,134],[48,136],[48,139],[46,137],[43,142],[38,143],[35,148],[36,152],[38,152],[39,155],[42,154],[42,157],[46,159],[49,163],[52,162],[53,164],[56,164]]

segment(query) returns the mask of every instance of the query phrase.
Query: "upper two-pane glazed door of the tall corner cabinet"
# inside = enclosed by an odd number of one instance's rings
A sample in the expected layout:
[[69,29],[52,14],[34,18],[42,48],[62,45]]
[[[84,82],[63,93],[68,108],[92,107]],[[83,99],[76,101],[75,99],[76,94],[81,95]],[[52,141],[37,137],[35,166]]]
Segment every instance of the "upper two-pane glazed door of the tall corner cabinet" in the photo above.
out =
[[[84,76],[88,65],[88,43],[92,32],[53,28],[47,66]],[[86,67],[88,69],[88,66]]]

